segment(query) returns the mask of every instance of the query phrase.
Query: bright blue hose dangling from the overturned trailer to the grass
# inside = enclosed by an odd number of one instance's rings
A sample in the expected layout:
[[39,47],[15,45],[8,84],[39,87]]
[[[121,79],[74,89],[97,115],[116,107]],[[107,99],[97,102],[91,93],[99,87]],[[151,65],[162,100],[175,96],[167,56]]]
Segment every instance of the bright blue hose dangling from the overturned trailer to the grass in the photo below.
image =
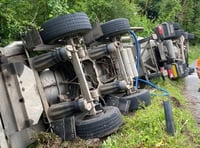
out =
[[[133,38],[133,40],[135,41],[135,46],[136,46],[136,68],[137,68],[137,71],[139,73],[139,70],[140,70],[140,45],[139,45],[139,42],[138,42],[138,39],[137,39],[137,36],[135,35],[134,31],[130,31],[130,34]],[[138,84],[139,84],[139,81],[157,89],[157,90],[160,90],[162,92],[164,92],[163,94],[161,94],[160,96],[169,96],[169,92],[161,87],[158,87],[157,85],[149,82],[149,81],[146,81],[146,80],[143,80],[143,79],[140,79],[139,77],[136,77],[135,78],[135,87],[136,89],[138,89]],[[159,96],[158,94],[152,94],[154,96]]]

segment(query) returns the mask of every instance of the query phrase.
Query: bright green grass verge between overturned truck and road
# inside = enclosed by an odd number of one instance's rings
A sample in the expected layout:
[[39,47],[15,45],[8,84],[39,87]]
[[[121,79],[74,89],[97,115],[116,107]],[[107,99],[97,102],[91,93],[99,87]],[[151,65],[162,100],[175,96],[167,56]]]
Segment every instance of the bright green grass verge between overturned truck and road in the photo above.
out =
[[[138,110],[134,115],[124,116],[124,125],[116,133],[103,141],[105,148],[140,147],[200,147],[200,129],[188,108],[188,102],[182,95],[183,79],[178,81],[155,81],[167,89],[171,100],[176,127],[174,136],[166,132],[163,100],[167,97],[154,96],[152,104]],[[155,92],[154,92],[155,93]],[[159,93],[159,92],[157,92]]]

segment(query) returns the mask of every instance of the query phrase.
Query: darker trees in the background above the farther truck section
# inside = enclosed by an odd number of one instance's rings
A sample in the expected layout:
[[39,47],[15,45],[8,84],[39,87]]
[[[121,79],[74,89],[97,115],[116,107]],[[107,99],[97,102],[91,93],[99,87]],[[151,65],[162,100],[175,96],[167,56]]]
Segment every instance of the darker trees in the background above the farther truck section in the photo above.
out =
[[164,21],[177,21],[181,27],[194,33],[195,40],[200,41],[200,1],[196,0],[135,0],[139,13],[155,24]]

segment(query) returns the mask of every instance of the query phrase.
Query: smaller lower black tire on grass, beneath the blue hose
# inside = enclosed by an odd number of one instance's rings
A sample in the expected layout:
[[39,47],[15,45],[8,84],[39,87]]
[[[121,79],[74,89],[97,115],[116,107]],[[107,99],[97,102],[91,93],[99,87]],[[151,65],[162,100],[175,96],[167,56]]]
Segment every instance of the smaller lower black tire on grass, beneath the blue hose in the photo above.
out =
[[148,106],[151,104],[151,97],[147,89],[140,89],[137,93],[121,97],[120,100],[130,100],[131,104],[129,111],[134,111],[143,107],[142,105]]

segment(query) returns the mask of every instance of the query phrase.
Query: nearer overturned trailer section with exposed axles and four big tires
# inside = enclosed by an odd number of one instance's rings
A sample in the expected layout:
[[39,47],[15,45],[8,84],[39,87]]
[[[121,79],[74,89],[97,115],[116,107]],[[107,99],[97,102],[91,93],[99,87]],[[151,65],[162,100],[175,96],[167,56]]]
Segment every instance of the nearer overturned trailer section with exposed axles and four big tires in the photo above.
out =
[[133,51],[120,40],[128,31],[127,19],[95,29],[80,12],[1,48],[0,146],[26,147],[33,132],[47,129],[63,140],[101,138],[122,125],[120,111],[149,105],[148,90],[133,85]]

